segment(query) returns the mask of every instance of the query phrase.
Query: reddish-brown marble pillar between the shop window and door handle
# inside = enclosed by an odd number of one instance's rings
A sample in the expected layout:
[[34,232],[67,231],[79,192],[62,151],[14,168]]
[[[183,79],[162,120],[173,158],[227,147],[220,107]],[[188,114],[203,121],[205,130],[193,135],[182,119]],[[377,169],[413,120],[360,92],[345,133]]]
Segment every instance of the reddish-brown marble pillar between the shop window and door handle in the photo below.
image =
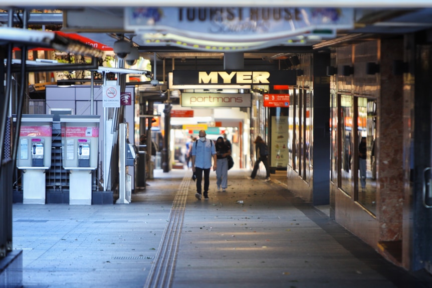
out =
[[376,141],[380,241],[402,238],[403,79],[392,73],[393,60],[403,59],[402,47],[402,40],[381,41],[381,97]]

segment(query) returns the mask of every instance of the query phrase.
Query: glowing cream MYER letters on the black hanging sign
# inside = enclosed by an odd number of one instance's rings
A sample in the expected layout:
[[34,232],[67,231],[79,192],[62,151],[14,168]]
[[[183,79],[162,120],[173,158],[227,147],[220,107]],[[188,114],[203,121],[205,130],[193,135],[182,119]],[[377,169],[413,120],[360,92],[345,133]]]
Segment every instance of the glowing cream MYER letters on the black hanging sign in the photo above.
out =
[[233,84],[232,80],[234,77],[237,84],[260,84],[270,83],[270,73],[265,71],[239,71],[239,72],[198,72],[198,83],[199,84],[218,84],[218,78],[223,79],[223,84]]

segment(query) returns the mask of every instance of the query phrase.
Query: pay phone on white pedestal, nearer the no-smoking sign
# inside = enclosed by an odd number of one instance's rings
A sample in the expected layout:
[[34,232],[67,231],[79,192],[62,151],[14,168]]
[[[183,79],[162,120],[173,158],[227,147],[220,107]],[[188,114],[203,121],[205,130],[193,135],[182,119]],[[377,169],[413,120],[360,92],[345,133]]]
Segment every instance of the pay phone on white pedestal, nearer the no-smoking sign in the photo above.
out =
[[69,170],[69,204],[92,204],[92,171],[97,168],[100,116],[60,115],[63,168]]

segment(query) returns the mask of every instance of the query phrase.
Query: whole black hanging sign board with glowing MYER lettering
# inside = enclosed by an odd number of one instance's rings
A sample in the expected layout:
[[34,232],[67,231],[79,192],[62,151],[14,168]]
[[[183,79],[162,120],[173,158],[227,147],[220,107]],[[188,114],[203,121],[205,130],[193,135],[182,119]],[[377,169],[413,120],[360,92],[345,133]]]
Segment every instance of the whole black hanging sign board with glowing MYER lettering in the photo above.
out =
[[295,85],[297,72],[295,70],[276,71],[199,71],[174,70],[172,72],[174,85],[185,84],[256,84],[256,85]]

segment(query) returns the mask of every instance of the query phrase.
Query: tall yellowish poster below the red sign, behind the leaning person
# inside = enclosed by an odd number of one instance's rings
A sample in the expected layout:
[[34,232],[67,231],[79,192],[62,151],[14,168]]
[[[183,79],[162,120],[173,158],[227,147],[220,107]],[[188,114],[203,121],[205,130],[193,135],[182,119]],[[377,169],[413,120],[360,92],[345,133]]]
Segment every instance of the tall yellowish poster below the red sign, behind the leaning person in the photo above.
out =
[[270,166],[286,168],[288,165],[288,116],[272,116]]

